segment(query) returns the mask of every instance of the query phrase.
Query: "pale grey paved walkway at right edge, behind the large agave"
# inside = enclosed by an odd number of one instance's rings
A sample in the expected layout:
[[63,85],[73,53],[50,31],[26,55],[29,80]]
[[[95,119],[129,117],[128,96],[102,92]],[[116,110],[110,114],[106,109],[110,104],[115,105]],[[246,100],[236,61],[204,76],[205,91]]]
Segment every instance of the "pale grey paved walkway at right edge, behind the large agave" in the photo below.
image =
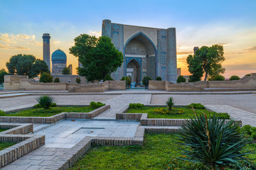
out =
[[228,113],[235,120],[242,120],[242,125],[251,125],[256,127],[256,114],[233,108],[227,105],[205,105],[217,113]]

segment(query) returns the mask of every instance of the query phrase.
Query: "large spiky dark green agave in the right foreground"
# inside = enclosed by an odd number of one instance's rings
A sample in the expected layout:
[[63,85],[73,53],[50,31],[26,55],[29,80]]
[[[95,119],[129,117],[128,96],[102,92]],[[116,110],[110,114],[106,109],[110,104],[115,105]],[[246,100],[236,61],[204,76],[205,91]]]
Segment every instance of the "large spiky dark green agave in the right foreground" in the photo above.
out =
[[181,150],[188,161],[202,163],[207,169],[225,169],[228,164],[241,168],[240,161],[246,161],[248,152],[242,149],[247,141],[233,120],[225,123],[215,114],[208,120],[206,114],[201,114],[186,120],[180,130],[178,140],[186,146]]

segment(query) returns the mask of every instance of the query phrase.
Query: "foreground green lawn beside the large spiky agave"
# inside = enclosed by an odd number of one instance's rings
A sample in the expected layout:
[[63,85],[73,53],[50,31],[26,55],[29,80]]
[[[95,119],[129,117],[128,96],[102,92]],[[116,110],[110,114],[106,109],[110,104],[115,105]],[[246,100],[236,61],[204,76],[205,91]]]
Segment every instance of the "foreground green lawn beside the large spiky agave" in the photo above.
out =
[[[205,169],[201,164],[181,160],[186,157],[177,142],[175,134],[145,134],[144,147],[92,147],[71,170]],[[248,145],[247,149],[256,149],[256,144]],[[256,154],[248,157],[253,162]]]

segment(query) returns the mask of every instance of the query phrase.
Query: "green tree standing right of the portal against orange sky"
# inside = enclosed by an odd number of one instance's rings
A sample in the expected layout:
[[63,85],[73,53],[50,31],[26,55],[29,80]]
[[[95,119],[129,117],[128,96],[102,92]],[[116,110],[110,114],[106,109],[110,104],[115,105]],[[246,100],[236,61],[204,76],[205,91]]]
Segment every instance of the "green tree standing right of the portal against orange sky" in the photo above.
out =
[[206,74],[204,81],[206,81],[208,76],[215,77],[223,74],[225,72],[225,68],[221,65],[221,62],[225,60],[223,55],[222,45],[203,46],[196,50],[195,55],[188,56],[188,71],[193,74],[193,79],[199,78],[200,76],[203,77],[203,71]]

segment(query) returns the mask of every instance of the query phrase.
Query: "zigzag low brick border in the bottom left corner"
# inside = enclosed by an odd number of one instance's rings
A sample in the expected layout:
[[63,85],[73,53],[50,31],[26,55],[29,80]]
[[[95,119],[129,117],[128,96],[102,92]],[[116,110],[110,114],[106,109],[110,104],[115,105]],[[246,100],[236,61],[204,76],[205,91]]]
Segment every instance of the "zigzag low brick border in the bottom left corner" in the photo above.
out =
[[24,135],[33,132],[33,124],[0,123],[0,128],[11,128],[0,133],[0,142],[18,142],[0,151],[0,169],[45,144],[45,135]]

